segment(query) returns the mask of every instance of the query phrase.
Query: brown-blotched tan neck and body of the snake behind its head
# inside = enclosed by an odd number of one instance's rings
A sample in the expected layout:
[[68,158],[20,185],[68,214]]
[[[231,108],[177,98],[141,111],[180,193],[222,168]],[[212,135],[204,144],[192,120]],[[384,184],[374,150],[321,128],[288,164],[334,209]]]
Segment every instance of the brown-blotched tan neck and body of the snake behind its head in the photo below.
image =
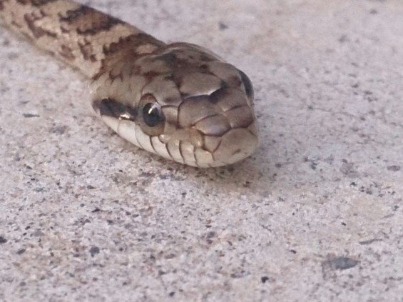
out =
[[135,26],[68,0],[0,0],[0,19],[90,78],[119,59],[136,59],[165,45]]

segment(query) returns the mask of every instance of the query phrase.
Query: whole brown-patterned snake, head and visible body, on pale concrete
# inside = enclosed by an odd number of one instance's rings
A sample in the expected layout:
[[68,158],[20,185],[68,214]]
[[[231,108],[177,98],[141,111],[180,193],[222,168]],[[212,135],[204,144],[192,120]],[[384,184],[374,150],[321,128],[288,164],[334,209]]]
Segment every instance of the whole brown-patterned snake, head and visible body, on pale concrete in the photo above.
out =
[[200,168],[257,149],[250,79],[202,46],[70,0],[0,0],[0,23],[81,71],[95,113],[141,149]]

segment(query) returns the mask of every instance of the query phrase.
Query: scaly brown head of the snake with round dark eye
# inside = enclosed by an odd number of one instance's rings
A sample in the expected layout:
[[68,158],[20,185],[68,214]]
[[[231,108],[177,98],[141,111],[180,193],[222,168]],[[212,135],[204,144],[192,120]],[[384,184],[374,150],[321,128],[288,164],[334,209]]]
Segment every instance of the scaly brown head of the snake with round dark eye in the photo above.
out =
[[253,88],[243,71],[185,43],[129,58],[91,84],[93,109],[124,139],[198,167],[235,163],[255,151]]

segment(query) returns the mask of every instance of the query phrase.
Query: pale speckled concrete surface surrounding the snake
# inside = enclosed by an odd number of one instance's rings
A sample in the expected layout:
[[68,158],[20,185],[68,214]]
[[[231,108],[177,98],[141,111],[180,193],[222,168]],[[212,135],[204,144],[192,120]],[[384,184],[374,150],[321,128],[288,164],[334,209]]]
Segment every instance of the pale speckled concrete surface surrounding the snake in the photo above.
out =
[[250,75],[262,144],[198,170],[0,29],[0,301],[403,301],[403,1],[91,1]]

